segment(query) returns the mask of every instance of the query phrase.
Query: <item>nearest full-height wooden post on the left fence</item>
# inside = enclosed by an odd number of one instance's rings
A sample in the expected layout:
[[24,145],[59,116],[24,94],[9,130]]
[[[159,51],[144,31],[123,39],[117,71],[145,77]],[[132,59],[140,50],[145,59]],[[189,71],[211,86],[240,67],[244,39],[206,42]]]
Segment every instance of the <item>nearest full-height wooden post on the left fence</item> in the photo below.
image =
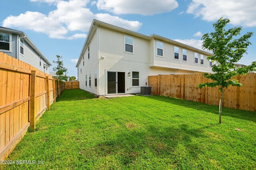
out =
[[36,128],[36,71],[34,70],[31,70],[30,83],[30,129],[34,131]]

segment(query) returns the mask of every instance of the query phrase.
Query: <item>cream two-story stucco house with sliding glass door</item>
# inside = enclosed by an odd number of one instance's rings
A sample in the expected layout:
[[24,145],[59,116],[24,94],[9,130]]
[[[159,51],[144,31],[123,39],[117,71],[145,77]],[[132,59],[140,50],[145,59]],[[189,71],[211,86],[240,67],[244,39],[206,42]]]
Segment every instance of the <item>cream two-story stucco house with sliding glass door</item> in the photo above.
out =
[[149,75],[211,73],[209,55],[156,34],[93,20],[76,64],[78,81],[98,96],[140,93]]

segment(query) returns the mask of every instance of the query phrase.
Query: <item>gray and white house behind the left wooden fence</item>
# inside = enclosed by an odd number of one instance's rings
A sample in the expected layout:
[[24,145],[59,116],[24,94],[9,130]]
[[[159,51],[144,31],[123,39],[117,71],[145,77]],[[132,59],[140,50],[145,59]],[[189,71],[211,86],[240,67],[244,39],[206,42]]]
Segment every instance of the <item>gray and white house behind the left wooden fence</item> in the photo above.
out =
[[51,63],[24,32],[0,27],[0,51],[50,73]]

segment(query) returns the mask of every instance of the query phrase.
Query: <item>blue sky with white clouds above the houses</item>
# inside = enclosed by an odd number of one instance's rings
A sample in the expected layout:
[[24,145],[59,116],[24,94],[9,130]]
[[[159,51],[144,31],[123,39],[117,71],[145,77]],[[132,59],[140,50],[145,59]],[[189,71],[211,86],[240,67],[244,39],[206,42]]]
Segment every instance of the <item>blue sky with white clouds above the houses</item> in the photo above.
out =
[[0,25],[25,32],[53,67],[61,55],[70,76],[77,75],[76,59],[94,18],[200,48],[202,34],[213,32],[223,16],[228,28],[254,32],[240,63],[256,60],[255,0],[0,0],[0,6]]

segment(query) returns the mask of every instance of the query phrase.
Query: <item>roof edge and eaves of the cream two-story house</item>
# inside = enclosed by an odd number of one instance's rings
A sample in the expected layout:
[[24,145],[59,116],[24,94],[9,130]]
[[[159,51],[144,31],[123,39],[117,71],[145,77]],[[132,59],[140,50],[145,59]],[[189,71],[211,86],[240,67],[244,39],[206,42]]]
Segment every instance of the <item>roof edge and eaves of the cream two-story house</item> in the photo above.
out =
[[88,47],[88,42],[90,42],[90,40],[92,39],[92,36],[94,34],[94,32],[96,31],[96,25],[98,26],[104,26],[106,28],[110,28],[112,30],[117,30],[117,31],[120,31],[120,32],[124,32],[126,34],[131,34],[131,35],[134,35],[134,36],[137,36],[137,37],[140,37],[140,38],[144,38],[146,40],[151,40],[152,38],[156,38],[158,40],[162,40],[162,41],[165,41],[165,42],[169,42],[169,43],[172,43],[174,45],[178,45],[180,47],[185,47],[187,49],[191,49],[191,50],[194,50],[194,51],[198,51],[199,53],[203,53],[205,55],[212,55],[211,53],[208,53],[206,51],[203,51],[201,49],[197,49],[195,47],[191,47],[189,45],[186,45],[184,43],[180,43],[180,42],[176,42],[174,40],[171,40],[171,39],[168,39],[168,38],[165,38],[165,37],[162,37],[162,36],[159,36],[159,35],[156,35],[156,34],[152,34],[150,36],[146,36],[144,34],[140,34],[138,32],[134,32],[134,31],[131,31],[131,30],[127,30],[125,28],[121,28],[121,27],[118,27],[118,26],[114,26],[114,25],[111,25],[111,24],[108,24],[106,22],[102,22],[102,21],[99,21],[99,20],[96,20],[94,19],[92,21],[92,24],[90,26],[90,29],[88,31],[88,36],[86,37],[86,40],[84,42],[84,45],[83,45],[83,48],[82,48],[82,51],[80,53],[80,56],[78,58],[78,61],[76,63],[76,67],[78,67],[78,63],[80,62],[81,58],[82,58],[82,55],[84,54],[86,48]]

